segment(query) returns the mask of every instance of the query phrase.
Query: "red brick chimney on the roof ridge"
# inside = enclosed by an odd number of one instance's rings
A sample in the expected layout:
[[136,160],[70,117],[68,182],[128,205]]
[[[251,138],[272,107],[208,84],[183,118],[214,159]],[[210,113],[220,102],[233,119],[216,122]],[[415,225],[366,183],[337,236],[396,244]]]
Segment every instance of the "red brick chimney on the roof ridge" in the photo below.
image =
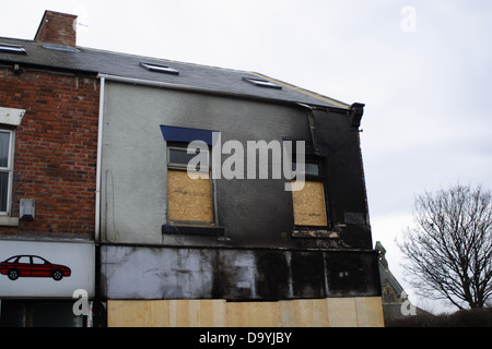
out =
[[34,40],[74,49],[77,45],[77,15],[45,11]]

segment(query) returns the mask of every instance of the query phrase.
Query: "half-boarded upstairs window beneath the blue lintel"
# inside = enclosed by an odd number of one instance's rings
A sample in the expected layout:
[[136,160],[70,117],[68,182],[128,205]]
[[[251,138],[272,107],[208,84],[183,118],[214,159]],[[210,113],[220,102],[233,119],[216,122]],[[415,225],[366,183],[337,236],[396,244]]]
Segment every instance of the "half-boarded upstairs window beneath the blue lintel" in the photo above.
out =
[[[194,174],[199,176],[189,176],[188,164],[197,158],[200,160]],[[167,147],[167,219],[171,224],[214,224],[209,164],[209,149],[187,154],[187,145]]]

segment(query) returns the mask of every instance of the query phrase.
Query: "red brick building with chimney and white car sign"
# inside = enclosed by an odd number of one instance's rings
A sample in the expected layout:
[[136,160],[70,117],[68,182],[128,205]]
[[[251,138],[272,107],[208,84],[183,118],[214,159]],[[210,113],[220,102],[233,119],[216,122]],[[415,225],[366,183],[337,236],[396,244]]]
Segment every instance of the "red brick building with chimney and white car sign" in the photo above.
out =
[[[60,64],[74,19],[46,12],[34,40],[0,38],[0,260],[21,256],[0,275],[2,325],[82,325],[73,291],[94,296],[99,81]],[[45,260],[71,276],[54,280]]]

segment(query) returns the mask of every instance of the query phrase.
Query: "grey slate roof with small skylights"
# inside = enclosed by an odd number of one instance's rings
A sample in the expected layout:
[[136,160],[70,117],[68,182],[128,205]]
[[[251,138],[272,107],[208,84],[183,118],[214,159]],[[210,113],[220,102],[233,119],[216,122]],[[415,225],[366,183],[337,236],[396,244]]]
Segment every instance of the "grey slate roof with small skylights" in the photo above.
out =
[[[350,109],[350,105],[268,76],[246,71],[177,62],[165,59],[141,57],[85,47],[66,48],[34,40],[2,38],[0,44],[22,46],[25,52],[0,50],[0,62],[51,68],[75,72],[87,72],[129,79],[190,86],[223,94],[267,98],[280,101],[300,103],[336,109]],[[150,71],[141,63],[166,65],[179,74]],[[267,80],[282,88],[272,88],[251,83]],[[249,80],[249,81],[248,81]]]

